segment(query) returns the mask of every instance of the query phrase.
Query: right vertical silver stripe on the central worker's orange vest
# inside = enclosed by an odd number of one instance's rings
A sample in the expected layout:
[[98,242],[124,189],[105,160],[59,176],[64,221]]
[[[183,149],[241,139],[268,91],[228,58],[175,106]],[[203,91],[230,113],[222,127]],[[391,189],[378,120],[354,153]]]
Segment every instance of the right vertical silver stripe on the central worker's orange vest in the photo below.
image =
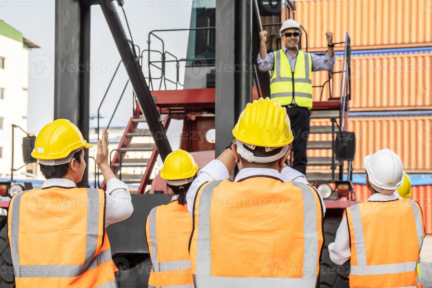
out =
[[[318,266],[318,219],[317,203],[314,191],[300,182],[292,182],[302,190],[303,194],[303,229],[304,229],[304,252],[303,252],[303,277],[315,278]],[[321,229],[321,228],[320,228]]]

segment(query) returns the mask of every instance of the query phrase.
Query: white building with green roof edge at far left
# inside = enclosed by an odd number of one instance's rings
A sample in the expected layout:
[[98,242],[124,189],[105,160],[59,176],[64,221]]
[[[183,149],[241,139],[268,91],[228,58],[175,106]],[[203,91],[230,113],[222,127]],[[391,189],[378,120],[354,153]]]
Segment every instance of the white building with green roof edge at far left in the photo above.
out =
[[[12,129],[16,124],[27,129],[27,86],[29,49],[39,48],[22,36],[22,33],[0,20],[0,178],[9,178],[12,160]],[[19,129],[14,136],[14,168],[21,167],[22,137]],[[19,179],[33,178],[22,168],[14,173]]]

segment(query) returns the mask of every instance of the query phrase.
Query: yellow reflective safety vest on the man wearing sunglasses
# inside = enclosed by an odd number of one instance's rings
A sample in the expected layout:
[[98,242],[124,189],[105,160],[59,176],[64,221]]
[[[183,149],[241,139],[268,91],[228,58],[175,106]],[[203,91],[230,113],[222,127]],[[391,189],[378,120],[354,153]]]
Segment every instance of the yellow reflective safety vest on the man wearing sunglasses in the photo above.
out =
[[[312,109],[312,58],[308,52],[297,53],[294,76],[288,57],[281,49],[274,51],[274,70],[270,78],[270,98],[288,105],[294,97],[295,104]],[[305,57],[307,55],[307,57]]]

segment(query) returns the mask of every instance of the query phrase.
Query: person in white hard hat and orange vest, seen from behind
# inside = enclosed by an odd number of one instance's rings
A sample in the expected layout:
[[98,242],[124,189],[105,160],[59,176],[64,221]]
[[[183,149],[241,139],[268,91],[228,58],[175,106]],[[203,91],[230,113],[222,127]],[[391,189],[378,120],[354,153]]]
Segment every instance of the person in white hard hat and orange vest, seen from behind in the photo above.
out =
[[425,237],[422,209],[394,192],[404,182],[402,161],[389,149],[364,159],[365,203],[346,208],[330,259],[343,265],[351,259],[350,287],[423,287],[417,267]]

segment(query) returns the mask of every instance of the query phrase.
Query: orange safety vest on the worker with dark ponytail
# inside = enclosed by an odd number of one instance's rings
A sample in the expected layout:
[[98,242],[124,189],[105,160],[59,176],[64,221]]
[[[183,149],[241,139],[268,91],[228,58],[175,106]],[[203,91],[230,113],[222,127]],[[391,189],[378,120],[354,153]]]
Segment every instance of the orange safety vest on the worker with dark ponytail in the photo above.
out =
[[152,260],[149,288],[194,288],[187,250],[191,230],[192,217],[187,205],[173,201],[150,211],[146,222]]

